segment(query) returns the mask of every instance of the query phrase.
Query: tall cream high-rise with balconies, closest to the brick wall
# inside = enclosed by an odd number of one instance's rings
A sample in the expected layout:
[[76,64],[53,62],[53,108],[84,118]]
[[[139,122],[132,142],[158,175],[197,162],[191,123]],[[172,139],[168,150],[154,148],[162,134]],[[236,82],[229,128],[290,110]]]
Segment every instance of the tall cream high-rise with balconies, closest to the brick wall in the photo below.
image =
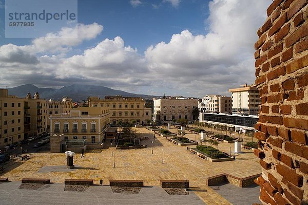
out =
[[232,113],[258,115],[261,103],[256,85],[241,85],[240,88],[229,89],[232,93]]

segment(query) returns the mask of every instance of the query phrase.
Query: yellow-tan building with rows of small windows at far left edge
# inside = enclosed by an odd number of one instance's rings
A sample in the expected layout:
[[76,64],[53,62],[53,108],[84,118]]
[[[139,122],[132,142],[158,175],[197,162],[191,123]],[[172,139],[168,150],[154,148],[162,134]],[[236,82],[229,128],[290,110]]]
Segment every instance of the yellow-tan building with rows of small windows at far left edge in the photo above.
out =
[[7,89],[0,89],[0,150],[25,138],[24,101],[9,96]]

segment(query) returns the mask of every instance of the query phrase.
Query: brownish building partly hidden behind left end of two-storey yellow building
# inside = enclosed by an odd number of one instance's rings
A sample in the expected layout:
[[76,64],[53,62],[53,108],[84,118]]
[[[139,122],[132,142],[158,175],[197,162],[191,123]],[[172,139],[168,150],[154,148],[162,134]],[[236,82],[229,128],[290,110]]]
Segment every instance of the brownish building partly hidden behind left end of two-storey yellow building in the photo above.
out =
[[47,129],[49,130],[50,115],[69,113],[73,108],[73,101],[71,98],[62,98],[62,101],[50,99],[47,102]]

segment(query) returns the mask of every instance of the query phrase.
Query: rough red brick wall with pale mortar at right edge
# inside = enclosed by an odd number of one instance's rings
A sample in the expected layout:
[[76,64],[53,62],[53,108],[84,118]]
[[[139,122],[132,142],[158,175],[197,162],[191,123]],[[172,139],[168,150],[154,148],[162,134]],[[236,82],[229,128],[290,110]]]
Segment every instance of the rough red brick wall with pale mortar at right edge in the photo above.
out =
[[308,204],[308,0],[275,0],[257,31],[256,134],[264,204]]

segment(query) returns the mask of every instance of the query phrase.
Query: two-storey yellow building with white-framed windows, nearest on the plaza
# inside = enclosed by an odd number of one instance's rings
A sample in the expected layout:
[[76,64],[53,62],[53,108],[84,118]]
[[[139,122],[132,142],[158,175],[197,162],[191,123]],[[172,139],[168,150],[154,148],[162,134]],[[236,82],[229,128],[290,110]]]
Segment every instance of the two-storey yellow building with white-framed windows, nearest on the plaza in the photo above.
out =
[[[69,113],[50,116],[50,151],[64,152],[71,147],[101,144],[110,123],[106,107],[78,107]],[[101,147],[97,147],[101,148]]]

